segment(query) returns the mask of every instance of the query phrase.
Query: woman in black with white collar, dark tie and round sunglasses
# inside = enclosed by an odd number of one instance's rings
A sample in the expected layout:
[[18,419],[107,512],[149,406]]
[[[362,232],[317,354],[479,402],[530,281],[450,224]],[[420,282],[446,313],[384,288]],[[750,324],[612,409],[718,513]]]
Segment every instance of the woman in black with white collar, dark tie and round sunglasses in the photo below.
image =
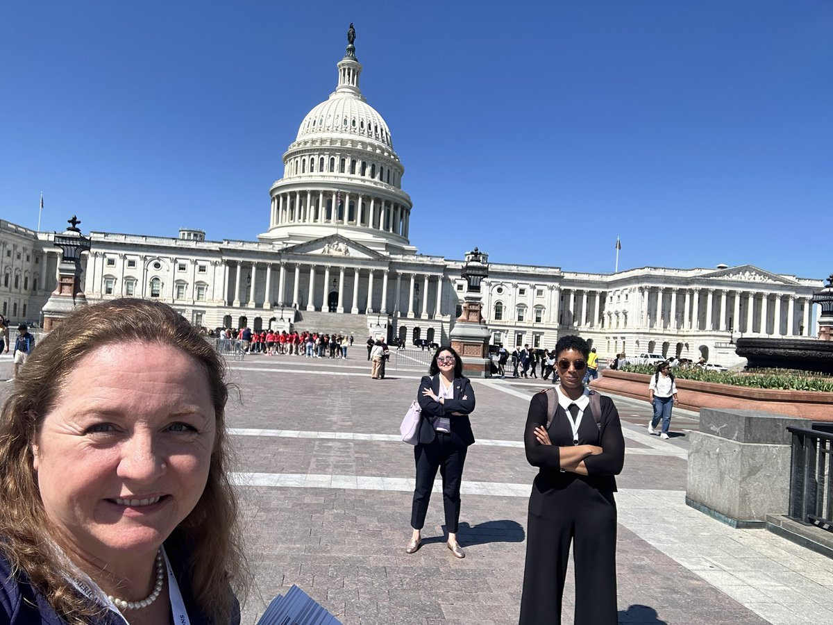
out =
[[538,468],[529,498],[521,625],[561,622],[573,544],[576,625],[616,625],[616,478],[625,460],[619,413],[611,398],[582,382],[590,347],[583,338],[556,344],[561,384],[529,406],[526,459]]

